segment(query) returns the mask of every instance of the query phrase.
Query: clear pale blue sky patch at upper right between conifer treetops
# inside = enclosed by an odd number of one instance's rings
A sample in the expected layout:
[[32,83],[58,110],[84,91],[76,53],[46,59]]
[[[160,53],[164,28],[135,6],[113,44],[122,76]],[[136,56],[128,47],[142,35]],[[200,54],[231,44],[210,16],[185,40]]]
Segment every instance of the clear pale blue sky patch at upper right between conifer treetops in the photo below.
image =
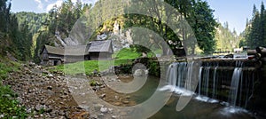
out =
[[210,8],[215,10],[215,19],[222,24],[228,21],[231,31],[235,28],[237,33],[246,28],[246,19],[252,19],[254,4],[260,11],[263,2],[266,0],[206,0]]

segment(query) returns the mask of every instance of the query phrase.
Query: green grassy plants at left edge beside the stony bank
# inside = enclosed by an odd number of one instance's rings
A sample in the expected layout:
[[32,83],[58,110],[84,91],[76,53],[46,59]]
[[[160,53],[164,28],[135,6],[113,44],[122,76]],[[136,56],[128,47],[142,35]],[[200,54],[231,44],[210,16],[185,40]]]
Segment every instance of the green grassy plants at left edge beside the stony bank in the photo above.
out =
[[[0,81],[7,78],[10,72],[18,71],[19,63],[9,61],[8,59],[0,58]],[[0,82],[0,114],[4,118],[25,118],[25,107],[19,106],[18,95],[11,90],[11,86],[4,85]]]

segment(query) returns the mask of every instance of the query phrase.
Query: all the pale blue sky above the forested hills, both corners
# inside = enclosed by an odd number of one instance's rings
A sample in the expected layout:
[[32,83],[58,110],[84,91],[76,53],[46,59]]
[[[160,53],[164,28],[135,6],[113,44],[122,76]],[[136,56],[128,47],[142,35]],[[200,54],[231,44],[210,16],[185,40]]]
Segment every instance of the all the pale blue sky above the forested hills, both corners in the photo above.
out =
[[[77,0],[72,0],[76,2]],[[93,4],[97,0],[81,0],[82,3]],[[215,19],[222,24],[228,21],[229,28],[237,33],[246,28],[246,19],[252,18],[254,4],[260,10],[266,0],[205,0],[215,10]],[[12,12],[49,12],[54,4],[60,5],[63,0],[12,0]]]

